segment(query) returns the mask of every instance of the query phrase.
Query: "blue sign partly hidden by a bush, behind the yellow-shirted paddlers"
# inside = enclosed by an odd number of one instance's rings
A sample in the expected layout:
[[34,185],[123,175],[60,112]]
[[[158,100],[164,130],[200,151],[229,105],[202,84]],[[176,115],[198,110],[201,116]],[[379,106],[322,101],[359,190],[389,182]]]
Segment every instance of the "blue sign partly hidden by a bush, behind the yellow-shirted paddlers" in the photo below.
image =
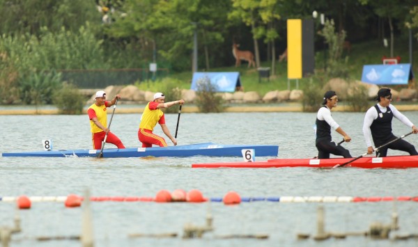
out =
[[192,90],[199,91],[199,83],[206,83],[214,86],[216,92],[235,92],[235,88],[241,86],[240,72],[194,72],[192,79]]

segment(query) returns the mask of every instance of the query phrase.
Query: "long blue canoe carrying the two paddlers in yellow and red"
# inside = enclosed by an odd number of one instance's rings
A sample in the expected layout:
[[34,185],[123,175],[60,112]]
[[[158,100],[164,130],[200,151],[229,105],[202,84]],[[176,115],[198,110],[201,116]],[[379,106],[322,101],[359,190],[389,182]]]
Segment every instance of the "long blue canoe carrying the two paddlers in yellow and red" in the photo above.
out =
[[[241,150],[253,149],[256,157],[279,154],[278,145],[219,145],[215,143],[199,143],[193,145],[177,145],[166,148],[109,148],[103,150],[103,158],[127,157],[190,157],[194,155],[210,157],[242,157]],[[3,157],[97,157],[100,150],[51,150],[36,152],[3,152]]]

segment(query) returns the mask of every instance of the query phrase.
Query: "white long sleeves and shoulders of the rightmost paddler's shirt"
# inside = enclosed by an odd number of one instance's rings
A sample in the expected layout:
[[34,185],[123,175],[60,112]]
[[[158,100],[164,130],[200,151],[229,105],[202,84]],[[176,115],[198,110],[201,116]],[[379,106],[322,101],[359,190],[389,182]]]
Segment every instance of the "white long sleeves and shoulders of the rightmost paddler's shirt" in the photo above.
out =
[[[378,107],[382,113],[385,113],[387,111],[386,107],[381,106],[378,104]],[[401,121],[404,125],[408,127],[412,127],[414,124],[407,118],[405,115],[403,115],[398,109],[396,109],[395,106],[392,104],[389,104],[389,109],[394,114],[394,117],[397,118],[399,121]],[[369,110],[367,110],[366,115],[364,116],[364,122],[363,122],[363,135],[364,140],[366,141],[367,147],[371,147],[371,130],[370,126],[373,123],[374,120],[378,118],[378,111],[376,110],[375,106],[371,106]]]

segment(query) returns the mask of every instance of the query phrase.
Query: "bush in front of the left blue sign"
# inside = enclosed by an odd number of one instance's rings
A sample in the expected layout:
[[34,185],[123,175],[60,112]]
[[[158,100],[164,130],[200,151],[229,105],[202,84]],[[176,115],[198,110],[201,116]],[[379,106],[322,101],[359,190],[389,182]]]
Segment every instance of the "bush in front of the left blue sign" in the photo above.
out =
[[202,113],[224,111],[224,100],[217,95],[215,86],[210,83],[208,78],[197,81],[196,105]]

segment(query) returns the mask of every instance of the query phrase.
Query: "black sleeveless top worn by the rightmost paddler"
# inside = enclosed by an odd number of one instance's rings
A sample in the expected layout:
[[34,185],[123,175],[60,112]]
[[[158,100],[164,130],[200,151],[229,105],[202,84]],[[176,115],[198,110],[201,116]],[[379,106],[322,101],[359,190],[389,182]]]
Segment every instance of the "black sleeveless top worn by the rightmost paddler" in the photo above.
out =
[[371,136],[373,137],[373,142],[376,146],[381,143],[385,143],[387,140],[392,138],[392,118],[394,118],[394,113],[389,108],[386,107],[386,112],[382,113],[379,106],[375,105],[376,111],[378,111],[378,118],[373,120],[373,123],[370,126]]

